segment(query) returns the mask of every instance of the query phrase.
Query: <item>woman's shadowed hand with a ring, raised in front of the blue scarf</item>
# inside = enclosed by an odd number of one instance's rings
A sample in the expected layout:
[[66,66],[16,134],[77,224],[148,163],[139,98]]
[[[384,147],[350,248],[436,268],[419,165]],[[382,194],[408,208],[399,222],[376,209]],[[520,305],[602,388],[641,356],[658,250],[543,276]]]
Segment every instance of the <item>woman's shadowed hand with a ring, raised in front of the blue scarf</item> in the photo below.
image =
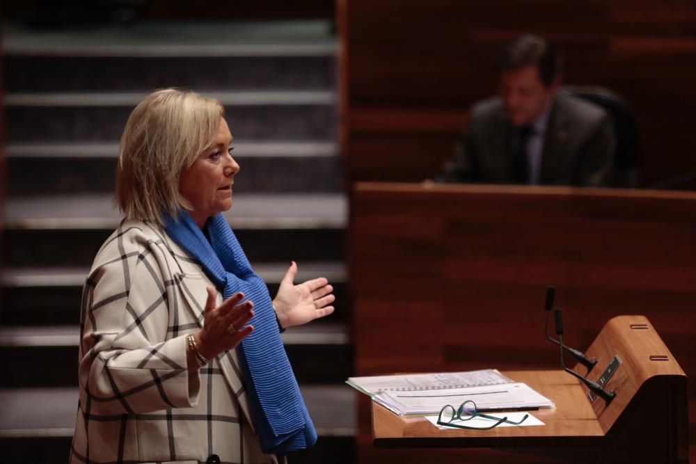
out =
[[235,349],[254,330],[253,326],[244,325],[254,315],[254,303],[245,301],[240,305],[244,294],[239,291],[215,307],[216,291],[213,287],[207,287],[207,291],[205,322],[193,337],[198,352],[212,360],[223,351]]

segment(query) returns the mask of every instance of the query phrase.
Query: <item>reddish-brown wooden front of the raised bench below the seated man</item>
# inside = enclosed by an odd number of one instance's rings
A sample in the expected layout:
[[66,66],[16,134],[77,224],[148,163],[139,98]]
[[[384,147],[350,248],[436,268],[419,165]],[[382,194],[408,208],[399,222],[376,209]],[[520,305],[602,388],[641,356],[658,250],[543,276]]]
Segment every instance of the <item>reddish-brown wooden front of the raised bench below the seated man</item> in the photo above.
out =
[[696,193],[357,184],[349,237],[359,375],[555,369],[553,284],[567,344],[644,314],[696,377]]

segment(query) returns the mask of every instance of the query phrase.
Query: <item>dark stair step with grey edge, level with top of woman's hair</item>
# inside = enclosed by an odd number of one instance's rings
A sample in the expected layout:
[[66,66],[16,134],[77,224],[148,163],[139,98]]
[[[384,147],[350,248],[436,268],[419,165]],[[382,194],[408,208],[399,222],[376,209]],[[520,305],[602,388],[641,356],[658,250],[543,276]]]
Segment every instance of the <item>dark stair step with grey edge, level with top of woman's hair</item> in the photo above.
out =
[[[8,143],[118,141],[129,114],[145,95],[7,94],[4,98],[6,138]],[[338,122],[333,90],[230,91],[205,95],[218,97],[226,106],[226,120],[233,136],[259,141],[336,138]]]

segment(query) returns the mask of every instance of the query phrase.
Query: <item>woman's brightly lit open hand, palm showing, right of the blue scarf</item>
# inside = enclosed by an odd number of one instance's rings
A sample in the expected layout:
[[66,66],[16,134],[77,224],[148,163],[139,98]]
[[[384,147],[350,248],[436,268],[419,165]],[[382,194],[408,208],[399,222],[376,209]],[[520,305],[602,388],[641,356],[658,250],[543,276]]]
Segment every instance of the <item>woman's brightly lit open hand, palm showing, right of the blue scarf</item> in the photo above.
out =
[[329,285],[329,280],[320,277],[294,285],[296,275],[297,264],[292,261],[273,301],[283,328],[299,326],[333,312],[333,306],[329,305],[336,298],[331,294],[333,287]]

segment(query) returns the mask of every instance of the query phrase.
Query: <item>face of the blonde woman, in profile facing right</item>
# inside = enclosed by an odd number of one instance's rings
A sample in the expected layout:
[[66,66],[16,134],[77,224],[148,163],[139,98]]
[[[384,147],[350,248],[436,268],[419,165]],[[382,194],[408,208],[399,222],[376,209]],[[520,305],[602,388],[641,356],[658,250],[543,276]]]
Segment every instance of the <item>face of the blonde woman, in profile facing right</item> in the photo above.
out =
[[201,228],[207,218],[232,207],[232,184],[239,164],[232,158],[230,143],[230,128],[225,118],[220,118],[212,145],[179,178],[179,192],[191,203],[193,210],[189,213]]

